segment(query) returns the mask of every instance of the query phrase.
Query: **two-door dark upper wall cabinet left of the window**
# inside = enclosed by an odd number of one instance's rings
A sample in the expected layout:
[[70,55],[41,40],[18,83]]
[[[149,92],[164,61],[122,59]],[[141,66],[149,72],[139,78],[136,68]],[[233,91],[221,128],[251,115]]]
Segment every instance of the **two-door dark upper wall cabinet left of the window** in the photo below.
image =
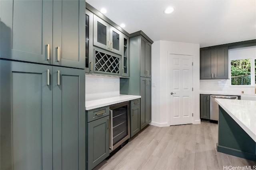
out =
[[228,79],[228,47],[201,50],[201,79]]

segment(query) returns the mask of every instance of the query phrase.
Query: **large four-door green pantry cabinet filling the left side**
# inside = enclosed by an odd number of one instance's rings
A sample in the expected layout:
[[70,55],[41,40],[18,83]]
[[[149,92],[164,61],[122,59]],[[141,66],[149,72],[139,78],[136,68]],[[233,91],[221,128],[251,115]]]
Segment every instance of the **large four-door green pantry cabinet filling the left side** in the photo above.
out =
[[0,3],[0,169],[85,169],[84,0]]

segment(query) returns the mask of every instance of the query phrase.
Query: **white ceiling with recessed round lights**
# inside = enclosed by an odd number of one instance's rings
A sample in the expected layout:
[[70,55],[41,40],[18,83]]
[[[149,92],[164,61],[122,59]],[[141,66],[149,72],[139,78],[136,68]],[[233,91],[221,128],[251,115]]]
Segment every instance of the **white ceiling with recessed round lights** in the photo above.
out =
[[[256,0],[86,0],[128,33],[200,47],[256,39]],[[166,7],[175,8],[164,14]]]

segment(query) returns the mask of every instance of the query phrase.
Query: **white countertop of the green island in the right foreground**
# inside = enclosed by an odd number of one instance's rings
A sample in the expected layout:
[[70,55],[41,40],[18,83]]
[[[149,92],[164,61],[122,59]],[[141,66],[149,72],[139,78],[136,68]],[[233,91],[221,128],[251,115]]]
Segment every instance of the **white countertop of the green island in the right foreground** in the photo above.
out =
[[256,142],[256,101],[219,98],[215,101]]

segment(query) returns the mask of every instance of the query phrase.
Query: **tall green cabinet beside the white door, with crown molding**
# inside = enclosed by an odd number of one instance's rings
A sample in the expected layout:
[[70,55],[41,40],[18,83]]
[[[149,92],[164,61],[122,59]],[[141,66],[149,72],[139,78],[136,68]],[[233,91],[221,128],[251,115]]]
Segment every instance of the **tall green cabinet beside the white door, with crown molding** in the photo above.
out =
[[130,78],[120,78],[120,94],[139,95],[140,129],[151,122],[151,45],[142,31],[130,36]]

